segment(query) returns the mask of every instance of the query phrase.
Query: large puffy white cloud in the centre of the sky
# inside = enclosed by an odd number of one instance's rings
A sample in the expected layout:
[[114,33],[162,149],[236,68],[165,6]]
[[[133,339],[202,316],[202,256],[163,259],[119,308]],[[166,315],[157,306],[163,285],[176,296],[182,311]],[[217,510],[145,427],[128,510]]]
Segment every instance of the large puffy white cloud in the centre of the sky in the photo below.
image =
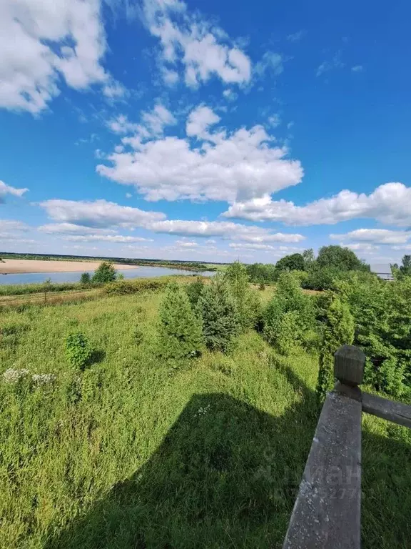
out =
[[236,202],[262,197],[298,184],[303,168],[285,147],[273,147],[262,126],[229,133],[217,127],[219,117],[201,105],[188,116],[187,133],[203,139],[165,137],[142,142],[135,134],[122,143],[131,150],[113,152],[99,174],[133,185],[147,200],[200,199]]

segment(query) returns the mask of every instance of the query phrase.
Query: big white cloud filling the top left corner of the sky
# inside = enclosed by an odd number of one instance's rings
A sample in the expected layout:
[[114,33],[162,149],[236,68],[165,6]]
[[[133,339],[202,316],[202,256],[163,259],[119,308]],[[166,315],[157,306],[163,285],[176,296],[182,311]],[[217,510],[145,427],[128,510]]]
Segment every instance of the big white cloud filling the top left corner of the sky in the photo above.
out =
[[101,61],[106,37],[100,0],[2,0],[0,2],[0,107],[46,108],[61,80],[73,89],[91,84],[123,94]]

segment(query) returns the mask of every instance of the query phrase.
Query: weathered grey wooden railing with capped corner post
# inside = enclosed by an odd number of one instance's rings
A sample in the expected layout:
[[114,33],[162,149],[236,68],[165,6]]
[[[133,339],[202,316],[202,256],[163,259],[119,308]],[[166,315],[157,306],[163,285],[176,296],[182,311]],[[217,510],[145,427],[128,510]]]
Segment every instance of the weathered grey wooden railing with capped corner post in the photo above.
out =
[[283,549],[360,549],[361,415],[411,428],[411,406],[360,390],[365,355],[335,353],[333,392],[318,420]]

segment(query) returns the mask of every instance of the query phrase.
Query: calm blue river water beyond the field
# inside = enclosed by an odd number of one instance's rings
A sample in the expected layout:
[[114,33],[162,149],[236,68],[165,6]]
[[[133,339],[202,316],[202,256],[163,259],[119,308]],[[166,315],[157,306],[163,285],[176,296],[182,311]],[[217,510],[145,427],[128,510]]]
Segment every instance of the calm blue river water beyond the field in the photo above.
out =
[[[88,271],[93,274],[93,271]],[[167,267],[138,267],[136,269],[118,269],[125,278],[153,278],[165,277],[168,274],[202,274],[212,277],[213,271],[184,271],[182,269],[168,269]],[[0,274],[0,285],[4,284],[33,284],[51,279],[51,282],[78,282],[81,272],[21,272],[18,274]]]

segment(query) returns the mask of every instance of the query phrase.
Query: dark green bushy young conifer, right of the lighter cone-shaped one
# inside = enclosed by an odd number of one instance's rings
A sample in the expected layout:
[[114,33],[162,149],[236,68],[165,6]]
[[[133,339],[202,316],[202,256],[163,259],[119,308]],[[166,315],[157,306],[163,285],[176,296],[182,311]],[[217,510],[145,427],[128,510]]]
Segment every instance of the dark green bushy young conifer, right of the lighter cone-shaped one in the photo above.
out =
[[227,282],[215,277],[204,287],[198,300],[198,312],[203,324],[205,345],[210,350],[228,350],[238,334],[238,313]]

